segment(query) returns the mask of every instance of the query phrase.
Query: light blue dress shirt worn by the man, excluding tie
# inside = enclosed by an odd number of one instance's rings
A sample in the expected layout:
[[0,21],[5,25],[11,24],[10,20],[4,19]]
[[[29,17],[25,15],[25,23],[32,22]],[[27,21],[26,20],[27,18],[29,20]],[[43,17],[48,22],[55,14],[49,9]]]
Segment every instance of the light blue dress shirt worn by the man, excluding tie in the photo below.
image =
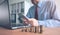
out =
[[[27,17],[35,17],[35,5],[32,6]],[[38,23],[45,27],[60,27],[60,14],[52,0],[40,0],[38,3]]]

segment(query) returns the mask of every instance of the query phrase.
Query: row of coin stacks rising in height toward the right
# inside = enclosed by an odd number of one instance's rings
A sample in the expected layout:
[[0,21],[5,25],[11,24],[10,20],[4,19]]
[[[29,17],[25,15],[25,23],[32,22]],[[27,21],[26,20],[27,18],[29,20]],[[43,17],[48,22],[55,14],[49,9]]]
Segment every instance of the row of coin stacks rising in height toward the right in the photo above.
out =
[[33,33],[42,33],[43,29],[42,29],[42,25],[40,26],[34,26],[34,27],[30,27],[30,28],[22,28],[21,32],[33,32]]

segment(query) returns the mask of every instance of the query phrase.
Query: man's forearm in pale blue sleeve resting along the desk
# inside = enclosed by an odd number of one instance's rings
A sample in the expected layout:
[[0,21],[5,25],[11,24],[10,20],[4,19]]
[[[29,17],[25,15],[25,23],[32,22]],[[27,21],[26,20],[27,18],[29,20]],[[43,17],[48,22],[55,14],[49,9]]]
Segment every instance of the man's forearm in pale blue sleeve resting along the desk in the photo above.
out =
[[60,21],[57,20],[44,20],[38,21],[39,25],[43,25],[45,27],[60,27]]

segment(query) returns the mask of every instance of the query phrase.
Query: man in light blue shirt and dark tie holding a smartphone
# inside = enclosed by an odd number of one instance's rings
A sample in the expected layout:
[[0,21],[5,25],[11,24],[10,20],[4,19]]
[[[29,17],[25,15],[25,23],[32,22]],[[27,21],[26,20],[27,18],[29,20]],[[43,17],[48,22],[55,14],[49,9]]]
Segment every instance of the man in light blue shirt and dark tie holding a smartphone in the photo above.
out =
[[60,27],[60,11],[52,0],[31,0],[33,6],[29,9],[24,20],[26,24],[32,26],[43,25],[45,27]]

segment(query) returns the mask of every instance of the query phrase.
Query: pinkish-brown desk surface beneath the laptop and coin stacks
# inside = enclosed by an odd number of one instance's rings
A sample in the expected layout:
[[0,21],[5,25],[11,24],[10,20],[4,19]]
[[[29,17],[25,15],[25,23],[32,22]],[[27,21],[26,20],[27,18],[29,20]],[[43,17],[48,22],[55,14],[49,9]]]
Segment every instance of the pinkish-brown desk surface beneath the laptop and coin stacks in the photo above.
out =
[[42,34],[32,32],[20,32],[20,29],[9,30],[0,27],[0,35],[60,35],[60,28],[44,28]]

